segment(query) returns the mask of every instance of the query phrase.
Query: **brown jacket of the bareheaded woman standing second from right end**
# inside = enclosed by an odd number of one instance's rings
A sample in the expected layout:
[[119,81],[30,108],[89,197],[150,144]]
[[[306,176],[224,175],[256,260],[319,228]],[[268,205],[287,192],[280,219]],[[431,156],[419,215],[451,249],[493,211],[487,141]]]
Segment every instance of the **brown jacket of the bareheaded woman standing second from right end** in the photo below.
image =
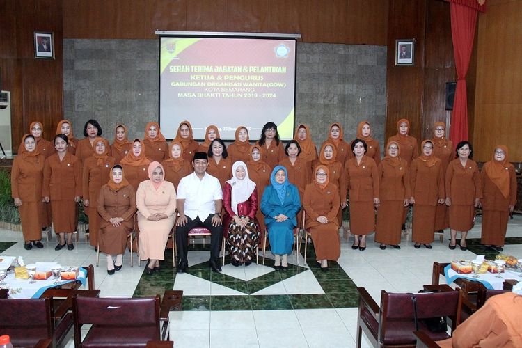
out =
[[473,205],[475,198],[482,198],[480,173],[475,161],[468,159],[466,167],[458,158],[451,161],[446,169],[445,189],[451,204]]

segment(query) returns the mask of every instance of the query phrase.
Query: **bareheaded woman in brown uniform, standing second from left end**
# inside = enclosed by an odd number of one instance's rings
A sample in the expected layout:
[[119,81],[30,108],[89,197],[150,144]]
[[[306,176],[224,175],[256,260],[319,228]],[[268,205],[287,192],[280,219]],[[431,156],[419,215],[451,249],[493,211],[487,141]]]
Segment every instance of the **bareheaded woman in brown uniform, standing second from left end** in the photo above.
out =
[[63,134],[54,137],[56,153],[45,160],[42,196],[51,202],[54,232],[60,242],[54,250],[65,246],[74,249],[72,232],[76,230],[76,207],[81,196],[81,164],[76,156],[67,151],[68,139]]

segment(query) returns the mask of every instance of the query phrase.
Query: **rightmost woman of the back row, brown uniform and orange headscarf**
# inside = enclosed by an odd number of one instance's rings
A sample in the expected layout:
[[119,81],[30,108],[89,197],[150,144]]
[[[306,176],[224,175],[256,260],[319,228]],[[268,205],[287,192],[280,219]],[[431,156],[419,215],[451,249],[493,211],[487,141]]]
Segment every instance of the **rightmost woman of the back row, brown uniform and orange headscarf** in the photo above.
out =
[[[445,138],[446,125],[444,122],[435,122],[433,130],[433,153],[435,157],[442,162],[442,174],[446,176],[446,169],[448,164],[453,159],[453,142]],[[448,212],[448,205],[438,204],[437,212],[435,214],[435,230],[439,233],[444,232],[446,228],[450,227],[450,213]]]

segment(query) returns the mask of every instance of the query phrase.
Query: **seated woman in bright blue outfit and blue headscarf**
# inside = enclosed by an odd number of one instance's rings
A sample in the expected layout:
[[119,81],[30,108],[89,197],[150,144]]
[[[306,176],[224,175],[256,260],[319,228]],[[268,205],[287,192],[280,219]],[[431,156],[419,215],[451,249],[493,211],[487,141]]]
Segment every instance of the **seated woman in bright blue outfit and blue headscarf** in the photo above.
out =
[[264,189],[261,211],[267,224],[268,239],[276,269],[287,270],[287,254],[292,253],[296,214],[301,209],[297,187],[288,182],[285,167],[276,166],[270,175],[271,185]]

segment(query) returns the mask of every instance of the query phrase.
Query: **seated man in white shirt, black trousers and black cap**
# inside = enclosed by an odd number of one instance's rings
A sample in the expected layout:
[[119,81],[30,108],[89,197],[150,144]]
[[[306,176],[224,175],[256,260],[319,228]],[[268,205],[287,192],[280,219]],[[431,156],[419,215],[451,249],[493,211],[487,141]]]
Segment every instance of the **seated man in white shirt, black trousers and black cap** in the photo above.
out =
[[196,152],[192,161],[194,172],[182,177],[177,186],[177,211],[180,217],[176,222],[176,244],[180,263],[177,272],[183,273],[187,261],[187,238],[192,228],[207,228],[210,236],[210,267],[212,271],[221,272],[219,247],[223,238],[221,223],[221,207],[223,206],[223,191],[219,180],[207,173],[208,157],[205,152]]

